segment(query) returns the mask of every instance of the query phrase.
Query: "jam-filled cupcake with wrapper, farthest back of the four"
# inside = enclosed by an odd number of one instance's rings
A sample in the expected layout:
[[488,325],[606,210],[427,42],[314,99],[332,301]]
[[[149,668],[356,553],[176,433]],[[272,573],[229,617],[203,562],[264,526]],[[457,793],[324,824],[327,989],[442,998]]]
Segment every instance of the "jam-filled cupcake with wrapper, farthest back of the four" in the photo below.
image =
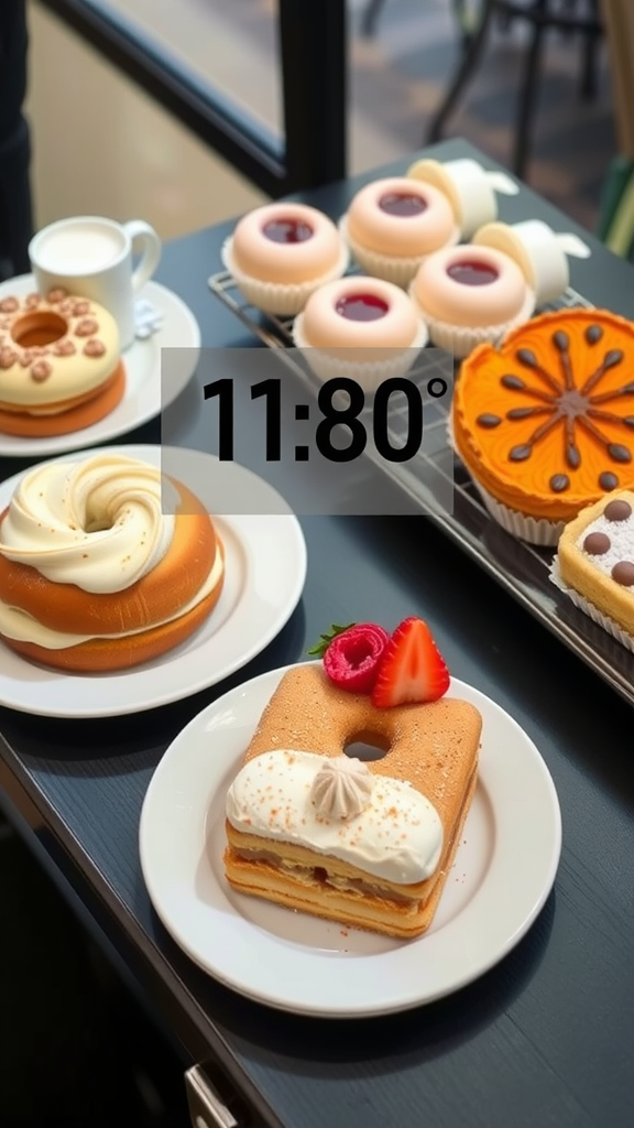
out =
[[340,228],[368,274],[404,289],[426,255],[460,238],[447,195],[405,176],[367,184],[351,201]]

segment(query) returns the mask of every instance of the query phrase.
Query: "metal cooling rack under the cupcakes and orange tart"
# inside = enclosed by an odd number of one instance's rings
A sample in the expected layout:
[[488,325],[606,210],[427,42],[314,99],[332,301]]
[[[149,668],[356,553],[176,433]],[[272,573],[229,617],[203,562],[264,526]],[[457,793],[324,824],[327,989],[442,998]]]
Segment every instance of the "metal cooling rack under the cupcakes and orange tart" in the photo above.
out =
[[[209,287],[249,333],[268,349],[276,351],[280,362],[293,370],[297,378],[312,393],[316,391],[317,379],[308,368],[298,363],[294,359],[297,351],[291,349],[292,318],[282,320],[249,306],[227,272],[212,275]],[[574,309],[580,306],[592,308],[592,303],[580,293],[567,289],[560,301],[544,307],[543,311]],[[433,376],[433,353],[423,350],[421,355],[424,358],[425,376],[430,378]],[[414,377],[416,371],[417,365],[412,369]],[[391,441],[398,443],[403,439],[406,425],[403,409],[390,411],[388,430]],[[407,464],[387,464],[378,458],[375,461],[468,556],[634,705],[634,654],[578,610],[551,582],[554,549],[537,548],[510,536],[490,515],[460,460],[454,460],[449,473],[441,465],[440,452],[444,457],[447,452],[447,425],[448,405],[437,400],[432,406],[431,420],[425,405],[424,451]],[[437,475],[444,475],[454,482],[452,512],[440,508],[425,484],[425,476],[429,477],[425,472],[429,472],[430,466],[433,466]]]

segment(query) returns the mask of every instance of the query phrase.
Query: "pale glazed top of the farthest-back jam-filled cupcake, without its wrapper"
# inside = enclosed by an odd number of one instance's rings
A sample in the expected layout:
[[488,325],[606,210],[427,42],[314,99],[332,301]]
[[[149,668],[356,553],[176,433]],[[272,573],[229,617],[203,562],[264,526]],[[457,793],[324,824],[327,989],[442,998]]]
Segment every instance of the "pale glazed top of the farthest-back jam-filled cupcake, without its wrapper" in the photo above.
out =
[[361,188],[347,209],[346,227],[351,245],[406,258],[429,255],[458,237],[447,196],[405,176]]

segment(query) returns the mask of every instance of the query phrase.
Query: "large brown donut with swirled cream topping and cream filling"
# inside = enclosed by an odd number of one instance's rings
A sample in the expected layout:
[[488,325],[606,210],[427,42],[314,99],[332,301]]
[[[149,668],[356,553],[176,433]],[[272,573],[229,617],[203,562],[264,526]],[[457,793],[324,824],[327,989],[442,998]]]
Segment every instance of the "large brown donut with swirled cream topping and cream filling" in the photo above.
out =
[[222,545],[202,503],[116,451],[28,473],[0,514],[0,636],[64,669],[123,669],[171,649],[222,590]]

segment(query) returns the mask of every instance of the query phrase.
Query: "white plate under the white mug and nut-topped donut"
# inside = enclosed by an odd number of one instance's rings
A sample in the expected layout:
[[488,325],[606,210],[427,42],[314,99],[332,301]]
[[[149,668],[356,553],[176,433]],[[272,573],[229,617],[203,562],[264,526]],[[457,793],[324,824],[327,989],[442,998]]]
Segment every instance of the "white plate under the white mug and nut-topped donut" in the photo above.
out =
[[[35,290],[33,274],[20,274],[0,283],[0,298],[8,294],[30,293]],[[0,455],[12,458],[28,458],[30,455],[61,455],[68,450],[82,450],[100,442],[118,439],[129,431],[142,426],[148,420],[159,415],[162,407],[170,404],[188,384],[200,353],[201,331],[188,306],[158,282],[147,282],[138,294],[138,300],[147,299],[162,314],[162,326],[147,341],[135,341],[123,353],[125,364],[125,393],[121,403],[109,415],[93,426],[58,434],[44,439],[24,439],[0,432]],[[167,380],[161,398],[160,351],[161,349],[190,349],[178,365],[170,365],[169,388]],[[171,368],[175,369],[171,372]]]

